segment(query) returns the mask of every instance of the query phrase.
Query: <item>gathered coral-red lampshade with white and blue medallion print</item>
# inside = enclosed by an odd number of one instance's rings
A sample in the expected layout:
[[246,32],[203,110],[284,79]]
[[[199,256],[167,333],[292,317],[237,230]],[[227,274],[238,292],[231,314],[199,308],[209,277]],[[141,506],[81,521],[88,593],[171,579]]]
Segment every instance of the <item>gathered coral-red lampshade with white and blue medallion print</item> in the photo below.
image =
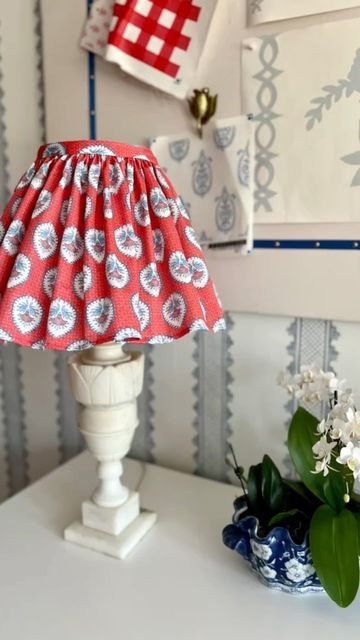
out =
[[224,328],[188,212],[146,148],[40,147],[0,218],[0,339],[78,351]]

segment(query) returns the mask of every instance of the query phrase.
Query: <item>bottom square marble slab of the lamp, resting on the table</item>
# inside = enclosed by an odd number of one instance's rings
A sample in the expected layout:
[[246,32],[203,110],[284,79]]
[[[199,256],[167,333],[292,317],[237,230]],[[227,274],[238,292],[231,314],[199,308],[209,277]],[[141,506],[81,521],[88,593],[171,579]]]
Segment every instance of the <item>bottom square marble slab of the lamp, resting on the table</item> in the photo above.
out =
[[154,526],[155,522],[156,513],[141,511],[135,520],[118,535],[92,529],[81,522],[74,522],[65,529],[64,537],[69,542],[123,560]]

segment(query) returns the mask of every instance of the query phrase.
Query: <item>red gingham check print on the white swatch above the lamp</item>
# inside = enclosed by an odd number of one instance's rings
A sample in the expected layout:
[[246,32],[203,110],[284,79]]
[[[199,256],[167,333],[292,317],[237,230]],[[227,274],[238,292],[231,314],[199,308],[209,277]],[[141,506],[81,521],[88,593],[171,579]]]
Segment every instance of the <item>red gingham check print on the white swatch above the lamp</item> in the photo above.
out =
[[[187,20],[196,23],[199,20],[201,8],[192,0],[152,0],[147,15],[140,13],[139,2],[142,0],[128,0],[126,4],[115,2],[113,15],[115,26],[109,33],[108,43],[132,58],[176,78],[180,66],[172,62],[175,49],[186,51],[190,45],[190,38],[183,33]],[[171,26],[164,26],[159,22],[163,11],[174,13]],[[133,36],[127,36],[129,25]],[[161,41],[158,51],[149,47],[152,37]]]

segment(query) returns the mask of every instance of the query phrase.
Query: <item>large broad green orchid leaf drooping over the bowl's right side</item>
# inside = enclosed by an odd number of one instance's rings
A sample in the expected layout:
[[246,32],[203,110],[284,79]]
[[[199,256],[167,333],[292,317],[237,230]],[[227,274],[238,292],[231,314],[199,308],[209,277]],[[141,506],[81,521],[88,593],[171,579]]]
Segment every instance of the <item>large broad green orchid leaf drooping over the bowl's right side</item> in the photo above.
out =
[[347,509],[319,507],[310,523],[310,550],[325,591],[340,607],[348,607],[359,588],[358,525]]

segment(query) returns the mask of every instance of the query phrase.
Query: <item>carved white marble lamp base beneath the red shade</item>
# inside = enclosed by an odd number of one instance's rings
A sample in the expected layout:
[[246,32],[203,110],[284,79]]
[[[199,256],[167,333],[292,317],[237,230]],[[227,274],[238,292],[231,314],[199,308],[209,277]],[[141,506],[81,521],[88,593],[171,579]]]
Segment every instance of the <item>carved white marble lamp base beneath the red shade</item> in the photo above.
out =
[[69,542],[125,558],[155,524],[156,514],[140,510],[139,494],[121,483],[121,460],[138,426],[144,356],[106,344],[73,356],[70,384],[81,405],[80,431],[97,460],[98,486],[82,504],[81,522],[64,532]]

